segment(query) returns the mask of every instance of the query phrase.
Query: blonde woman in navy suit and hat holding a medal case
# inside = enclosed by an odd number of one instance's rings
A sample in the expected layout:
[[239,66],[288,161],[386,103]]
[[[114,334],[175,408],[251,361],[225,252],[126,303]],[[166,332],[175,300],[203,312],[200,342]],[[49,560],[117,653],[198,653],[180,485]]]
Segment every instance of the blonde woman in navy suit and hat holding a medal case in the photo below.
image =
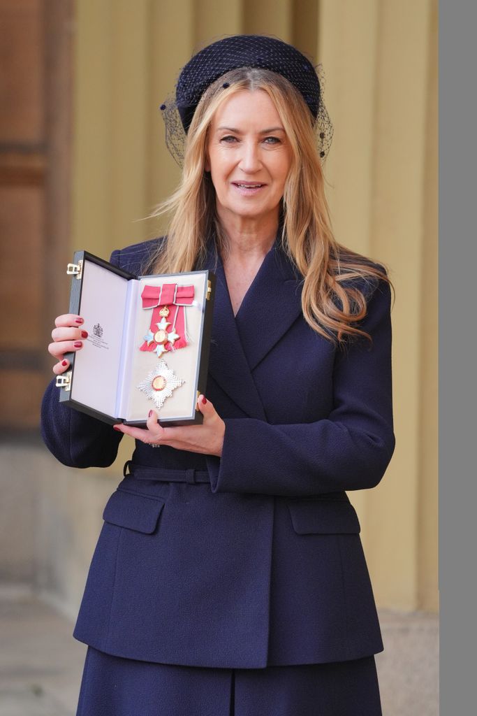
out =
[[[177,103],[177,104],[176,104]],[[132,462],[104,510],[74,636],[79,715],[375,716],[383,649],[360,526],[394,449],[390,285],[333,238],[320,81],[277,39],[221,39],[162,105],[187,133],[167,238],[114,251],[133,273],[216,272],[202,425],[115,425],[43,404],[74,467]],[[54,373],[81,350],[59,316]],[[152,450],[160,446],[159,450]]]

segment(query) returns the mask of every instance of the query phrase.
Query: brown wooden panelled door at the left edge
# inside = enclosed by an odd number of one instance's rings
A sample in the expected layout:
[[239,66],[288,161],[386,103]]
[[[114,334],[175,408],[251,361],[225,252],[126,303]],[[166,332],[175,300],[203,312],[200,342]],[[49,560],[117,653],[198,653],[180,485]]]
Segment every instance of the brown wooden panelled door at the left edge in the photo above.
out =
[[2,437],[37,431],[67,305],[72,26],[70,0],[0,0]]

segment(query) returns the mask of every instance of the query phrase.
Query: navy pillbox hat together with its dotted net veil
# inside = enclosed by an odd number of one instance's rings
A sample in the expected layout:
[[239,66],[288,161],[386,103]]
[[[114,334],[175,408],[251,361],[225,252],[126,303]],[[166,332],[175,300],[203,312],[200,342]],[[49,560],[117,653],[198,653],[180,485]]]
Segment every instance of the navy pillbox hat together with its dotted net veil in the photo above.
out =
[[[232,69],[269,69],[285,77],[300,92],[312,115],[320,158],[325,160],[333,125],[323,102],[323,68],[292,45],[264,35],[233,35],[207,45],[182,68],[175,92],[161,105],[166,144],[177,163],[184,161],[187,130],[207,87]],[[217,82],[216,91],[229,85]]]

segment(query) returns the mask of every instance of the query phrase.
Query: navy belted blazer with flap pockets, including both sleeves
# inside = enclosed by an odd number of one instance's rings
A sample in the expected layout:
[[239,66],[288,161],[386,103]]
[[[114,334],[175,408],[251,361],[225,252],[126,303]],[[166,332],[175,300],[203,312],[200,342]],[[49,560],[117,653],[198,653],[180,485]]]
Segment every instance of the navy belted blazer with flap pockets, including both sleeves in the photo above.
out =
[[[114,251],[139,273],[157,240]],[[74,637],[109,654],[200,667],[356,659],[383,649],[360,526],[345,490],[377,485],[394,450],[390,289],[363,284],[373,345],[303,319],[278,241],[234,317],[220,258],[206,396],[222,457],[136,443],[89,569]],[[42,433],[65,465],[110,465],[122,435],[59,404]],[[162,470],[189,470],[164,482]],[[210,482],[193,483],[194,470]]]

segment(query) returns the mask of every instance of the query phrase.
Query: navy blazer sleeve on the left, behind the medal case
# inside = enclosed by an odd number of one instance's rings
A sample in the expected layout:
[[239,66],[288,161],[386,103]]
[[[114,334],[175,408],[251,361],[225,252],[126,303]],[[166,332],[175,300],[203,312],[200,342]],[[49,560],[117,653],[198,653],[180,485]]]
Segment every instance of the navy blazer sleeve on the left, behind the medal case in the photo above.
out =
[[[120,251],[109,261],[119,266]],[[71,468],[104,468],[117,456],[122,432],[97,418],[59,402],[56,377],[46,388],[41,402],[41,437],[60,463]]]

